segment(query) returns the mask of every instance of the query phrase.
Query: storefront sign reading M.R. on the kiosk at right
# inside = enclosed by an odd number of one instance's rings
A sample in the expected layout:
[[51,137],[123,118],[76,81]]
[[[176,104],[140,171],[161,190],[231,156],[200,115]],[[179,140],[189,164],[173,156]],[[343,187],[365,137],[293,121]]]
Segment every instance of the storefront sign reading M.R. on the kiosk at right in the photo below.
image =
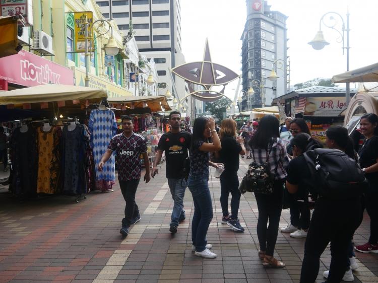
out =
[[303,114],[335,117],[346,108],[345,97],[307,97]]

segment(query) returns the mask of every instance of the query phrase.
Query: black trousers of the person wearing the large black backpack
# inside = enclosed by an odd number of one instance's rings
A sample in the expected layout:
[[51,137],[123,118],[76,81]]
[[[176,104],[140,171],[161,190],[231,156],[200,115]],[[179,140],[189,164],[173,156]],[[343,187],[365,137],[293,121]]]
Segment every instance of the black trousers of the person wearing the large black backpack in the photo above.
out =
[[306,242],[300,283],[315,282],[320,256],[331,242],[331,266],[326,282],[339,283],[347,270],[348,246],[357,228],[360,201],[320,198],[314,211]]

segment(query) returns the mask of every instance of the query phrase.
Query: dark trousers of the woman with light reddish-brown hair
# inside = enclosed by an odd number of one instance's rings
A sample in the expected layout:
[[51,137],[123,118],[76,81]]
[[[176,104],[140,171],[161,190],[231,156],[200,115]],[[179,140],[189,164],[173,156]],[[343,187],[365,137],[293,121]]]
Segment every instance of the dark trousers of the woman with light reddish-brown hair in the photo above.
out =
[[231,193],[231,218],[237,219],[239,210],[240,196],[239,191],[239,178],[237,172],[226,173],[220,176],[221,183],[221,206],[223,216],[228,216],[228,195]]

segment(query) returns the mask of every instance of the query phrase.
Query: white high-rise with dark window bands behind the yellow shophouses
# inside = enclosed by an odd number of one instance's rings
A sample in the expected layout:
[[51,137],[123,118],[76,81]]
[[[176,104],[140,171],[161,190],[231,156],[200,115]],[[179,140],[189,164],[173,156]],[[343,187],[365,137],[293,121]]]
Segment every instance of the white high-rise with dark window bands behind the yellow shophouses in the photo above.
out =
[[[96,3],[103,16],[115,20],[124,34],[128,33],[132,21],[140,53],[154,59],[159,83],[167,83],[172,91],[168,68],[184,63],[180,0],[98,0]],[[176,87],[178,92],[184,92],[183,81],[178,78]],[[161,90],[160,94],[165,91]]]

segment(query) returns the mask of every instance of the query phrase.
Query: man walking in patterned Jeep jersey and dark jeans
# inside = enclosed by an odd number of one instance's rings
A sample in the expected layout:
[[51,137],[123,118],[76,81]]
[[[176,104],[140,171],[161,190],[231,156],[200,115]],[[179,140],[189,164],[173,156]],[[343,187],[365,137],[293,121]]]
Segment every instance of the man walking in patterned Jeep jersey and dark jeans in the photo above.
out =
[[143,155],[146,174],[144,180],[150,181],[150,162],[147,155],[147,144],[145,138],[133,132],[133,118],[122,117],[123,132],[112,137],[108,149],[98,164],[98,170],[102,171],[105,162],[109,160],[112,153],[116,152],[118,165],[118,181],[126,206],[124,208],[124,218],[122,228],[119,231],[124,237],[129,234],[130,225],[141,220],[139,208],[135,202],[139,180],[141,178],[141,159]]

